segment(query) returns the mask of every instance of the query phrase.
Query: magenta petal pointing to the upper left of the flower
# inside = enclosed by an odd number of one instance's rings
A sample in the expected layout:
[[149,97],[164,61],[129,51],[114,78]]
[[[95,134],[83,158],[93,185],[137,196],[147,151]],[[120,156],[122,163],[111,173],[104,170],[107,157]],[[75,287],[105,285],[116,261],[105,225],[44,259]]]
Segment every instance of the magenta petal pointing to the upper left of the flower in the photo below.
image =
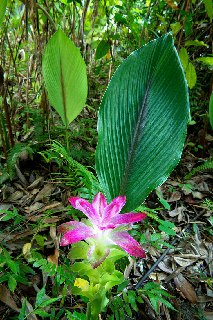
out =
[[69,202],[75,209],[80,210],[91,220],[93,225],[100,223],[100,216],[97,210],[87,200],[79,197],[69,197]]

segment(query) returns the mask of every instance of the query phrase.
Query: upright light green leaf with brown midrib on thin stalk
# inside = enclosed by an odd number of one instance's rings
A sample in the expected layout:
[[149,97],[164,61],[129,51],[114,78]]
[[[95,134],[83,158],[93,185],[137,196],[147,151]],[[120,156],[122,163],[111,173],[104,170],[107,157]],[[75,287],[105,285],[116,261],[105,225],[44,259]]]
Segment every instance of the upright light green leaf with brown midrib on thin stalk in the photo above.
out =
[[60,28],[45,47],[42,73],[49,102],[67,128],[86,102],[87,73],[79,50]]

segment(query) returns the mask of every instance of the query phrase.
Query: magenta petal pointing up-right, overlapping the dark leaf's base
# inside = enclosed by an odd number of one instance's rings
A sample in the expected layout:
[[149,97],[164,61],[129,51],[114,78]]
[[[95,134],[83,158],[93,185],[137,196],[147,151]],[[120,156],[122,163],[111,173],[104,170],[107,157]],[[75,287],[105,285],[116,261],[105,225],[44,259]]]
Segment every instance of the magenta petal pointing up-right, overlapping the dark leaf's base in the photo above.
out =
[[112,200],[103,210],[101,225],[105,227],[121,211],[126,203],[126,196],[119,196]]

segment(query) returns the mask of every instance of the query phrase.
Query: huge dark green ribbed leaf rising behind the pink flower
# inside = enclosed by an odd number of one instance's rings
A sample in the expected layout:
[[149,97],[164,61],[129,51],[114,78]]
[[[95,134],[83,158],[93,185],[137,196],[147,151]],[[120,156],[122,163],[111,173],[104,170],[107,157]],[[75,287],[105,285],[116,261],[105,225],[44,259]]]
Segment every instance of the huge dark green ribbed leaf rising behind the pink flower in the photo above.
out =
[[96,171],[108,199],[140,206],[179,163],[189,118],[188,86],[171,34],[118,67],[98,114]]

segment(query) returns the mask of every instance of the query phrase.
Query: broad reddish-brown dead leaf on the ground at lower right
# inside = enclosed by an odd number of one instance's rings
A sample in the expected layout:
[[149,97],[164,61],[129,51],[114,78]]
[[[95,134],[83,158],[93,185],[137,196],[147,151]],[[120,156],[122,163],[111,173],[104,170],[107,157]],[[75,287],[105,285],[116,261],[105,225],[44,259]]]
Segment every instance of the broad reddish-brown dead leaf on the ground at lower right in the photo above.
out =
[[174,282],[176,284],[177,289],[182,292],[182,294],[187,300],[194,304],[197,303],[197,297],[194,292],[193,286],[186,280],[186,278],[181,273],[179,273],[178,276],[174,277]]

